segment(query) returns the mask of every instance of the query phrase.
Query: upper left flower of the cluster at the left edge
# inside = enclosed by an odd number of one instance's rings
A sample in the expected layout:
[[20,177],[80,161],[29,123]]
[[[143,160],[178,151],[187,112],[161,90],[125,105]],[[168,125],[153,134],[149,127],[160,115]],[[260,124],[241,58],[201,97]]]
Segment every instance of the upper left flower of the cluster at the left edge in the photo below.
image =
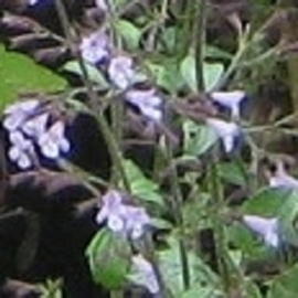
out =
[[4,109],[6,117],[3,120],[3,127],[9,131],[17,130],[30,116],[36,111],[38,107],[39,102],[35,99],[10,105]]

